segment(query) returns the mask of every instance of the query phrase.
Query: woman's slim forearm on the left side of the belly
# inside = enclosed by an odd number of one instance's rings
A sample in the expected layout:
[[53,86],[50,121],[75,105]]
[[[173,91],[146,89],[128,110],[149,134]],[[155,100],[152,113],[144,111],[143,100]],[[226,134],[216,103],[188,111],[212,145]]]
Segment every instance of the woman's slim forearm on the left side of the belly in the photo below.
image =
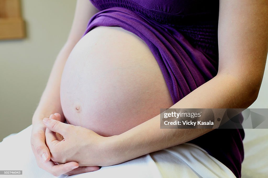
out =
[[42,124],[42,119],[44,117],[49,117],[50,114],[53,113],[60,113],[61,116],[63,116],[60,102],[61,75],[66,60],[74,46],[74,43],[66,42],[61,51],[59,52],[51,70],[46,88],[40,99],[39,105],[33,115],[33,125]]

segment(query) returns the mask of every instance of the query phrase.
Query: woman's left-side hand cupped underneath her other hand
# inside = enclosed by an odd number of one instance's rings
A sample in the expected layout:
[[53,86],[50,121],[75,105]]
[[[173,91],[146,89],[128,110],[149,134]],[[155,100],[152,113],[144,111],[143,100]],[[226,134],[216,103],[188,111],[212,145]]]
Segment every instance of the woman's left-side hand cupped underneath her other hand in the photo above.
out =
[[31,147],[38,166],[54,176],[59,176],[77,168],[79,165],[76,162],[58,165],[50,161],[50,152],[45,141],[45,130],[46,127],[42,122],[33,125],[32,128]]

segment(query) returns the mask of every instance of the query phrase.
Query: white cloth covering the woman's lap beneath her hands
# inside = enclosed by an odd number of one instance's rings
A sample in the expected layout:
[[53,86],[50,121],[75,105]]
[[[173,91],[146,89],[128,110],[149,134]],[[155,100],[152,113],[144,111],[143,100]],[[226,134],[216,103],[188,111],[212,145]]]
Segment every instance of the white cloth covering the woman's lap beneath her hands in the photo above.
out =
[[[22,175],[0,177],[54,177],[39,168],[30,145],[32,126],[6,137],[0,143],[0,170],[22,170]],[[63,177],[69,177],[61,175]],[[70,177],[162,178],[162,177],[235,177],[224,164],[195,144],[181,144],[153,152],[118,165]]]

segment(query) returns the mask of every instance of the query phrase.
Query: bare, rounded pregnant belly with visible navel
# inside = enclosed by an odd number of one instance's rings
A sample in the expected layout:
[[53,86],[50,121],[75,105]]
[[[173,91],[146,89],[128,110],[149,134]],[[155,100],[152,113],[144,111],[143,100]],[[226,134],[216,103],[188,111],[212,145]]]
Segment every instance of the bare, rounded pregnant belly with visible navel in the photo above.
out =
[[76,44],[60,96],[69,124],[102,136],[119,135],[173,105],[146,43],[120,27],[96,27]]

